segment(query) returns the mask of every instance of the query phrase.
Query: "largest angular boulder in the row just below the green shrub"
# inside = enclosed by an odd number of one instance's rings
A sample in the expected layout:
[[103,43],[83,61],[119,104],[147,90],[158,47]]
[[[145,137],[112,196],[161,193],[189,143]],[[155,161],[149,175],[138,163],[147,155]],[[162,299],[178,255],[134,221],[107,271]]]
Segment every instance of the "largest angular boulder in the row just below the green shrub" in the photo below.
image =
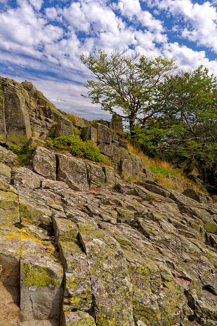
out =
[[57,154],[58,173],[57,180],[65,182],[76,191],[88,190],[87,172],[85,163],[73,156]]

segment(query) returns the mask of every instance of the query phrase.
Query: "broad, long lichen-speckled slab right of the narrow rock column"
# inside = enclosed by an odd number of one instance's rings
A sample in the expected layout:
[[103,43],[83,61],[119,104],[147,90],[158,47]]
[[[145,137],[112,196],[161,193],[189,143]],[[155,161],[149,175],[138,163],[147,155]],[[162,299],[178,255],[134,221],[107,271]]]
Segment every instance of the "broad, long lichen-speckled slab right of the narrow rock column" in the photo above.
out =
[[97,325],[109,320],[111,325],[134,326],[132,288],[120,245],[88,224],[79,224],[79,234],[88,259]]

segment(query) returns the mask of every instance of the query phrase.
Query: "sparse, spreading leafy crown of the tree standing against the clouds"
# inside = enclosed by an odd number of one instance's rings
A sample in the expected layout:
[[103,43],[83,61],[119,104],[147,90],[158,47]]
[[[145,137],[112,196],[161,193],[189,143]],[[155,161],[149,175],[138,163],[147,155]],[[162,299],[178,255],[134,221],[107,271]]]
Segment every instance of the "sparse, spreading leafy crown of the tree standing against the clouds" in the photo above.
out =
[[115,49],[108,55],[99,49],[89,56],[81,55],[81,60],[96,77],[84,84],[88,93],[82,96],[100,103],[101,109],[110,113],[120,109],[123,120],[129,121],[130,130],[138,114],[143,114],[145,122],[172,102],[171,91],[182,82],[181,75],[172,79],[177,68],[174,59],[127,54],[126,49]]

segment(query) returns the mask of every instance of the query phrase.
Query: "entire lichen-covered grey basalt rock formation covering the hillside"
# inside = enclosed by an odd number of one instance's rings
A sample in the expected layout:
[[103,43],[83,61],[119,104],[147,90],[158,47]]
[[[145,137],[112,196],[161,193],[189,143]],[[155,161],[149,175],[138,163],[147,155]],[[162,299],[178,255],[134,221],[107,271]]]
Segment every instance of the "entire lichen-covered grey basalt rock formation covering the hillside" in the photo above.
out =
[[[13,142],[36,146],[30,166],[7,149],[9,102],[23,114]],[[73,129],[31,83],[4,79],[1,105],[0,325],[217,325],[217,205],[154,182],[103,124],[80,128],[114,167],[48,150],[48,133]]]

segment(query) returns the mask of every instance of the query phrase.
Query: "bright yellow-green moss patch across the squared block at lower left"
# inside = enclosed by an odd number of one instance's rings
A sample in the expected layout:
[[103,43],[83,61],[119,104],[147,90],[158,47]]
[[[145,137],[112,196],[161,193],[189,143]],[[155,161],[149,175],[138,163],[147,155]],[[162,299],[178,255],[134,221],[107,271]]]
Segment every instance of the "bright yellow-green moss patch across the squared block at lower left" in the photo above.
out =
[[49,284],[57,286],[60,281],[56,281],[51,276],[47,274],[48,269],[46,267],[30,267],[28,264],[24,263],[21,265],[23,284],[25,286],[43,286],[47,287]]

